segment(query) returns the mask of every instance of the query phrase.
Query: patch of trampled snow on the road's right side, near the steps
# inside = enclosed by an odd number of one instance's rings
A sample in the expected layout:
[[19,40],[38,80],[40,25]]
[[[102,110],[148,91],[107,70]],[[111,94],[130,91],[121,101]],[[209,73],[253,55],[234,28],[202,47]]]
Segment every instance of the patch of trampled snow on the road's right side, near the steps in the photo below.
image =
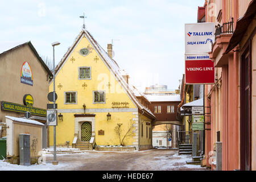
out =
[[192,160],[191,155],[156,156],[156,165],[159,164],[160,170],[179,170],[180,168],[205,169],[200,165],[187,164],[186,161]]

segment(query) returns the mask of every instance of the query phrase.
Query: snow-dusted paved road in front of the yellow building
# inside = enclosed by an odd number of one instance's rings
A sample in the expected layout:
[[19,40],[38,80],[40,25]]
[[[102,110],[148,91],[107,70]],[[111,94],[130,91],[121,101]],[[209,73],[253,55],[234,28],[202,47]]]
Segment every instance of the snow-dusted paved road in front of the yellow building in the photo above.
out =
[[[86,151],[82,154],[57,155],[61,170],[79,171],[166,171],[206,170],[199,165],[187,165],[188,156],[177,155],[177,150],[147,150],[132,152]],[[47,160],[52,160],[48,156]]]

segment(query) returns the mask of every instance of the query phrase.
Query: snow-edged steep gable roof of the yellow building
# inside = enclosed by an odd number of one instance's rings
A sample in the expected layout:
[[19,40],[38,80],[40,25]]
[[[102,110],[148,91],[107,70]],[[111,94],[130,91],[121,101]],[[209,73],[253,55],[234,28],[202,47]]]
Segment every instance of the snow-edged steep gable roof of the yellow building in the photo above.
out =
[[145,107],[139,102],[138,98],[133,92],[134,90],[133,86],[127,84],[127,82],[124,80],[121,73],[119,72],[120,68],[118,64],[112,58],[109,57],[108,53],[96,42],[93,36],[85,29],[82,29],[79,36],[77,36],[77,38],[75,39],[75,42],[73,43],[73,45],[68,49],[68,51],[65,53],[65,55],[61,59],[60,63],[56,66],[55,73],[56,74],[59,73],[60,68],[67,60],[72,50],[76,47],[77,43],[79,43],[79,40],[83,35],[89,40],[92,47],[96,50],[96,52],[104,61],[104,63],[107,65],[107,67],[110,69],[110,71],[113,72],[117,81],[122,85],[122,88],[126,90],[127,94],[129,94],[131,100],[134,102],[135,105],[137,105],[138,109],[146,111],[146,113],[148,113],[148,115],[150,115],[151,118],[155,119],[155,115],[150,111],[150,109],[148,109],[147,107]]

